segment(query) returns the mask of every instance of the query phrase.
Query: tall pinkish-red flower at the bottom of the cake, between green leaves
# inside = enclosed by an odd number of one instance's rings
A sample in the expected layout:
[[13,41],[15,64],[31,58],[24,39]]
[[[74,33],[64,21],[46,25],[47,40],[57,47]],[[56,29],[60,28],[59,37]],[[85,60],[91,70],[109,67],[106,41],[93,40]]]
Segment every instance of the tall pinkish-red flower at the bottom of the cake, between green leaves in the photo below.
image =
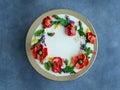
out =
[[59,73],[59,72],[61,72],[61,67],[62,67],[62,58],[60,58],[60,57],[54,57],[53,59],[52,59],[52,65],[53,65],[53,67],[52,67],[52,71],[53,72],[55,72],[55,73]]

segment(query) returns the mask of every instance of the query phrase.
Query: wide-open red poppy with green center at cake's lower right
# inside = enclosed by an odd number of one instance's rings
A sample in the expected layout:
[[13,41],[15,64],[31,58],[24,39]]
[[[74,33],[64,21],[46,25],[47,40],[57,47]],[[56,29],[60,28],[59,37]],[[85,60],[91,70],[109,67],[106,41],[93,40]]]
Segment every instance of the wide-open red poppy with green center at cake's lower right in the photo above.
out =
[[72,63],[77,69],[82,69],[84,66],[87,66],[89,64],[89,60],[83,53],[81,53],[72,58]]

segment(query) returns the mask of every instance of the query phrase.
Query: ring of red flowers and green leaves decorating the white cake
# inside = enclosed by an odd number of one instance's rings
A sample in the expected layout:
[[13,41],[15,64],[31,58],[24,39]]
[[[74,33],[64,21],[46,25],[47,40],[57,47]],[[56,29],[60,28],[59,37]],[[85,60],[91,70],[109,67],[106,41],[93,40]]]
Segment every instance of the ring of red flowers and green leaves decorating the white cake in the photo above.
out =
[[[80,43],[80,50],[82,52],[78,53],[78,55],[71,56],[70,62],[67,59],[59,57],[59,56],[52,56],[48,57],[48,48],[45,43],[45,34],[47,33],[48,36],[54,37],[55,32],[46,32],[46,28],[52,27],[55,25],[55,28],[59,27],[60,25],[65,27],[65,34],[69,37],[75,36],[76,33],[79,34],[80,37],[85,38],[85,43]],[[70,20],[68,15],[65,15],[65,18],[61,18],[58,15],[47,16],[42,20],[42,29],[35,31],[31,46],[31,53],[33,57],[40,61],[41,64],[44,65],[45,69],[48,71],[52,71],[54,73],[69,73],[74,74],[76,73],[74,69],[81,70],[82,68],[89,65],[90,62],[90,54],[95,54],[95,52],[90,48],[87,47],[87,43],[95,44],[96,43],[96,35],[87,28],[86,32],[83,30],[82,22],[78,21],[78,26],[75,25],[73,20]],[[48,57],[49,60],[46,62],[45,59]],[[64,65],[64,67],[62,67]]]

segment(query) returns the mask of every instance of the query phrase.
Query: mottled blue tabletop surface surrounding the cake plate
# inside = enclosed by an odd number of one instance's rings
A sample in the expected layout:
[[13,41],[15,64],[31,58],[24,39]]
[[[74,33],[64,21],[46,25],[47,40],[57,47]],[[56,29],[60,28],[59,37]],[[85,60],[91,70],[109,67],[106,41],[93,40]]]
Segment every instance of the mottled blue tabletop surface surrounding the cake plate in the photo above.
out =
[[[30,25],[52,9],[71,9],[93,24],[99,39],[95,63],[81,78],[56,82],[28,62]],[[0,90],[120,90],[120,0],[0,0]]]

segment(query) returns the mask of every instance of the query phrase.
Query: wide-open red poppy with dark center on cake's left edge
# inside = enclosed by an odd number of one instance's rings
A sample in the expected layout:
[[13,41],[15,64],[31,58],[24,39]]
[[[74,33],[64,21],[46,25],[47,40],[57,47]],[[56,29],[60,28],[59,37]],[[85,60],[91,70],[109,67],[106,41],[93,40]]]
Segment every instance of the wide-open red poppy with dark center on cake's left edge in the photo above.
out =
[[40,60],[43,63],[44,58],[48,55],[47,48],[44,48],[42,44],[36,44],[31,48],[32,55],[35,59]]

